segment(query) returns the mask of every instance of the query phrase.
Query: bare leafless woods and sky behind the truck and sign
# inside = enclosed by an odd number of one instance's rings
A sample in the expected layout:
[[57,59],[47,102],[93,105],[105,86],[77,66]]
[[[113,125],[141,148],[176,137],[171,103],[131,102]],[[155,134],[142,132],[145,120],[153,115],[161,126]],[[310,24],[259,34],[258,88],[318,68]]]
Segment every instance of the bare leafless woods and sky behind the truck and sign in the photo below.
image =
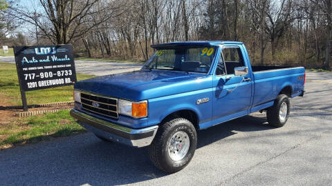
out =
[[[77,56],[144,61],[155,43],[230,40],[243,41],[255,65],[331,68],[331,6],[332,0],[0,0],[0,44],[71,43]],[[23,25],[28,34],[17,32]]]

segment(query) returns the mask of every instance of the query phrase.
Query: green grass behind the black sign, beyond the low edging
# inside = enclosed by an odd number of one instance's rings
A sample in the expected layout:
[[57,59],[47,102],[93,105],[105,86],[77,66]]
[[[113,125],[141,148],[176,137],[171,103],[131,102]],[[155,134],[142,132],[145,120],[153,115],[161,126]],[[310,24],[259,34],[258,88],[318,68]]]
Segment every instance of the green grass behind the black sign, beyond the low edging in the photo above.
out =
[[[89,79],[94,76],[77,74],[77,81]],[[14,64],[0,62],[0,94],[6,95],[12,105],[21,105],[19,81]],[[54,103],[59,101],[73,101],[73,85],[55,87],[45,90],[26,92],[28,105]]]

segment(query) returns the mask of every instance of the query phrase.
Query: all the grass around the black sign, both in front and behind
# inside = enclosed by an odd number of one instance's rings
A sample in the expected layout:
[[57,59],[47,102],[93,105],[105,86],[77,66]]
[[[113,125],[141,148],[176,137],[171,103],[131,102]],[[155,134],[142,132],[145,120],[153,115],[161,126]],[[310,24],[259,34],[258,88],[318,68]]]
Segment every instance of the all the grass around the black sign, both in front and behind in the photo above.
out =
[[[77,74],[77,80],[91,77],[93,76]],[[0,94],[8,98],[8,100],[0,100],[0,103],[21,105],[19,81],[14,64],[0,62]],[[26,92],[26,97],[28,105],[72,101],[73,86],[30,91]],[[13,117],[8,122],[0,123],[0,149],[15,144],[37,143],[38,141],[58,136],[69,136],[84,131],[84,128],[78,125],[69,115],[68,110],[28,118]]]

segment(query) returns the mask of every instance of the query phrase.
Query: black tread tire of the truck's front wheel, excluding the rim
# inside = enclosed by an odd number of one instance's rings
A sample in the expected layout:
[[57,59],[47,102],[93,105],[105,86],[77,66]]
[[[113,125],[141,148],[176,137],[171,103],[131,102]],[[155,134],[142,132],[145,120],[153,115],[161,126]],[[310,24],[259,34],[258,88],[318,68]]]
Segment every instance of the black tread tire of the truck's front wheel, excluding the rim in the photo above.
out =
[[[168,145],[176,132],[185,132],[190,138],[187,154],[180,161],[173,161],[168,153]],[[158,132],[149,146],[149,157],[158,169],[167,173],[178,172],[190,163],[197,145],[197,134],[194,125],[185,118],[171,118],[161,123]]]

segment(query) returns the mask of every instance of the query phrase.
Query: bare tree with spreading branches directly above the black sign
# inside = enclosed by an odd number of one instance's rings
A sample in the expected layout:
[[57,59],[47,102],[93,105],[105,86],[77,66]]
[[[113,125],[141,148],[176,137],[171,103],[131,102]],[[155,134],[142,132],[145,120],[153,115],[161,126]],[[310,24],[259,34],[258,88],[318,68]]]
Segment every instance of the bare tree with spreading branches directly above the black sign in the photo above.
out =
[[[80,39],[100,23],[120,14],[112,1],[105,2],[102,8],[95,6],[97,3],[99,0],[39,0],[42,9],[28,10],[24,6],[15,6],[15,3],[8,9],[12,17],[36,25],[53,43],[64,44]],[[98,21],[91,20],[94,14],[101,13],[105,16]]]

